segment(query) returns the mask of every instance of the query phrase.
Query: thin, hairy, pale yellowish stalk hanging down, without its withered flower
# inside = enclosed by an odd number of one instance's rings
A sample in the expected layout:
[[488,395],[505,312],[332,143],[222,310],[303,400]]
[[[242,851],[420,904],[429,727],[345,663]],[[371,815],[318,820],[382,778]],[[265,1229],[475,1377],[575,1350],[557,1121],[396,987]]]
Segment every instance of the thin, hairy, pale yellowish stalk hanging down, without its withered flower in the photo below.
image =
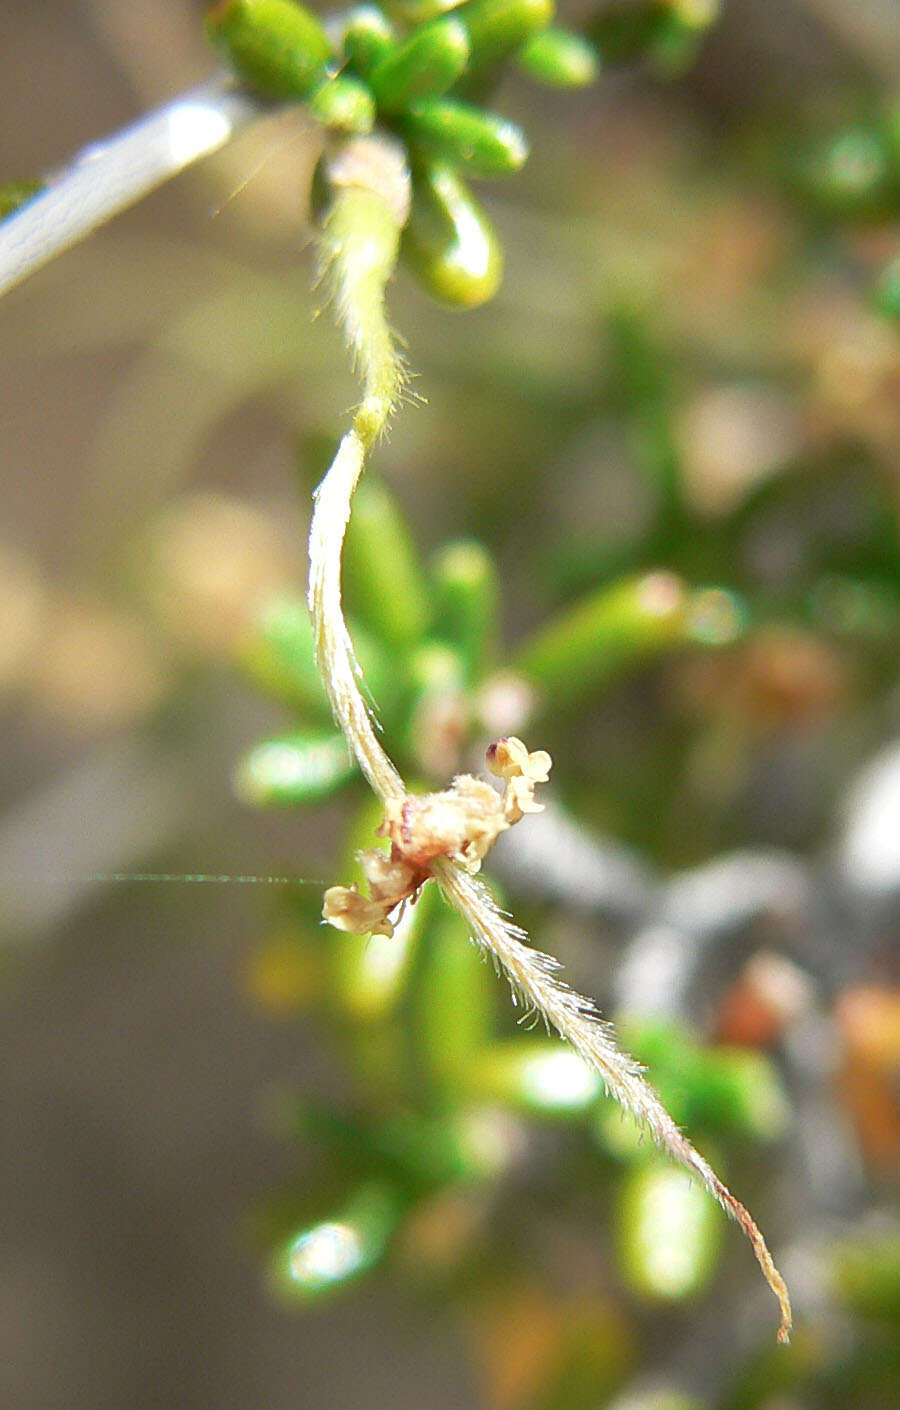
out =
[[[388,802],[403,798],[403,780],[382,749],[360,688],[360,670],[341,608],[341,553],[353,491],[365,457],[388,424],[402,388],[402,364],[385,316],[385,286],[396,261],[402,228],[402,202],[381,195],[371,185],[371,162],[381,140],[353,144],[353,159],[337,168],[350,180],[334,195],[322,235],[323,272],[332,281],[340,321],[357,360],[363,400],[351,429],[316,491],[310,526],[309,606],[313,616],[319,668],[334,716],[360,768],[374,791]],[[334,173],[334,164],[332,172]],[[381,173],[384,175],[384,172]],[[385,564],[389,591],[391,565]],[[537,1012],[571,1043],[608,1091],[640,1121],[680,1165],[691,1170],[749,1238],[769,1286],[779,1299],[779,1341],[790,1335],[787,1289],[766,1242],[745,1207],[722,1184],[704,1158],[674,1124],[639,1065],[622,1053],[608,1024],[591,1000],[556,977],[557,960],[526,943],[526,935],[508,921],[491,897],[457,862],[443,856],[430,870],[451,907],[468,922],[475,943],[506,974],[513,997]]]

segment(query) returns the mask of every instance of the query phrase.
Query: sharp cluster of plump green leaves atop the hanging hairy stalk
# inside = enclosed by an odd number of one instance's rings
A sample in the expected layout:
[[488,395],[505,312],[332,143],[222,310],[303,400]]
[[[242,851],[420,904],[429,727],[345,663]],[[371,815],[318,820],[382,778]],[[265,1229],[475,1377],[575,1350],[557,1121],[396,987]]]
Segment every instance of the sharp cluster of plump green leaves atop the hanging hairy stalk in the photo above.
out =
[[207,31],[255,92],[303,102],[337,131],[378,125],[403,142],[412,207],[402,259],[433,296],[473,307],[497,292],[502,252],[468,178],[515,172],[528,155],[521,128],[484,106],[508,62],[539,83],[580,87],[607,49],[614,59],[674,54],[714,10],[684,0],[614,6],[594,24],[597,45],[552,25],[554,0],[387,0],[327,28],[295,0],[224,0]]

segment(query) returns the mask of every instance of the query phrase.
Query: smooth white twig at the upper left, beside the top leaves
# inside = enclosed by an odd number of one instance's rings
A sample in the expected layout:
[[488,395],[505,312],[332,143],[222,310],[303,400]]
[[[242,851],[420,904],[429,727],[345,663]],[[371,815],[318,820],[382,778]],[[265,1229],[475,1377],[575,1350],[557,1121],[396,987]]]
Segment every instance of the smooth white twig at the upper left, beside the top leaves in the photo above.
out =
[[221,73],[85,147],[0,224],[0,293],[78,244],[268,109]]

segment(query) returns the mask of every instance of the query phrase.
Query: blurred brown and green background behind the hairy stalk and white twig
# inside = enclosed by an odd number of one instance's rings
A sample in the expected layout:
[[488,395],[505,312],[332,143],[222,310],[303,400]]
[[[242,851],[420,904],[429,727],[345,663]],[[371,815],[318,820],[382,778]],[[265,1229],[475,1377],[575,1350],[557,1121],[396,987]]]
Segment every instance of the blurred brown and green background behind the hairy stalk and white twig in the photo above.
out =
[[[200,82],[203,8],[0,0],[3,179]],[[566,7],[597,85],[504,85],[492,303],[398,276],[427,405],[348,598],[408,776],[553,753],[492,874],[749,1204],[794,1344],[436,904],[387,956],[316,924],[377,818],[302,654],[355,392],[288,114],[0,307],[10,1410],[900,1394],[900,24],[667,8],[629,49]],[[310,884],[92,880],[150,871]]]

